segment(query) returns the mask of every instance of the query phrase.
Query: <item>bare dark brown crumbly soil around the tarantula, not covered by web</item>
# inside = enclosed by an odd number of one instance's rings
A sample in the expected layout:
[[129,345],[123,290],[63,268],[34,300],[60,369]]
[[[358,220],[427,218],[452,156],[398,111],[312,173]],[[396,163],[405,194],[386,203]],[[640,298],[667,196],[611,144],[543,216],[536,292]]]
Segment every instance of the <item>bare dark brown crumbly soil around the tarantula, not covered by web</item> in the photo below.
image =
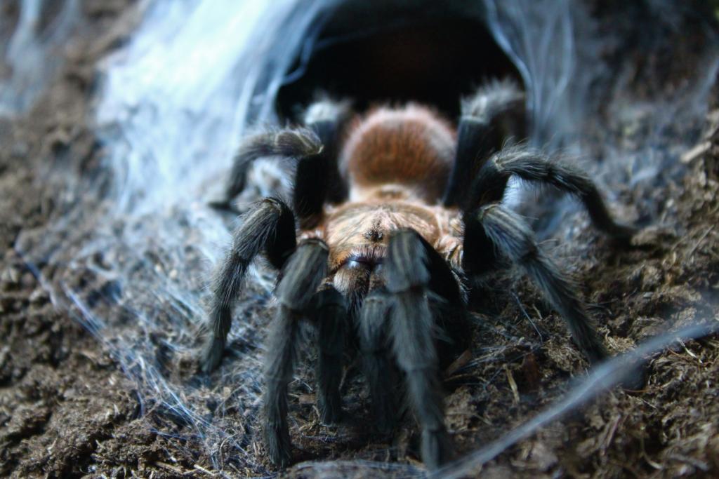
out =
[[[42,231],[54,213],[58,186],[52,182],[52,169],[73,167],[81,175],[101,155],[86,124],[93,68],[129,32],[132,4],[85,1],[90,21],[63,52],[68,58],[63,71],[27,118],[0,122],[2,476],[164,478],[215,473],[207,453],[184,439],[185,429],[158,432],[154,415],[161,413],[141,414],[134,383],[98,338],[68,312],[53,307],[14,247],[21,232]],[[687,39],[689,45],[694,41]],[[677,52],[663,55],[646,60],[651,68],[644,65],[638,71],[674,65],[669,60]],[[681,82],[674,80],[689,67],[666,68],[669,80],[657,81],[667,90],[679,88]],[[637,83],[643,80],[637,75]],[[716,94],[712,102],[705,136],[672,175],[638,187],[618,180],[610,183],[619,194],[615,205],[626,205],[620,215],[649,219],[633,248],[614,248],[589,227],[581,212],[567,214],[564,236],[546,243],[571,267],[613,352],[695,320],[719,320]],[[609,125],[597,134],[597,141],[628,144],[633,131],[626,124]],[[43,272],[52,277],[53,271]],[[552,404],[569,388],[567,380],[582,377],[587,366],[562,320],[542,304],[526,280],[498,279],[497,294],[482,301],[476,320],[477,346],[445,382],[447,424],[461,454],[495,440]],[[604,394],[503,452],[482,468],[482,477],[715,477],[717,378],[718,338],[677,343],[649,358],[644,389]],[[355,419],[334,428],[321,426],[311,397],[293,387],[292,434],[301,450],[298,459],[390,460],[421,469],[411,418],[405,418],[394,439],[368,434],[367,393],[357,381],[348,383],[346,406]],[[259,442],[249,450],[266,464]],[[224,473],[242,477],[252,471],[229,464]],[[395,475],[391,469],[342,462],[296,465],[287,476],[380,473]]]

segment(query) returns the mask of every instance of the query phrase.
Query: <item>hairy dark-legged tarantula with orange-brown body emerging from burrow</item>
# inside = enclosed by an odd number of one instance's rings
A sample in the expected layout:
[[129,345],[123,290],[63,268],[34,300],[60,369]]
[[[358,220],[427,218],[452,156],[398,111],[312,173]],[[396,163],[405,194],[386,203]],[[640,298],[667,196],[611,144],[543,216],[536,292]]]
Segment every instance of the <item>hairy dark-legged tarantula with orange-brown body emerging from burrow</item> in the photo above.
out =
[[521,266],[567,322],[591,363],[607,357],[572,283],[537,244],[531,228],[502,204],[510,177],[575,195],[592,223],[627,240],[633,228],[613,220],[595,184],[572,165],[502,144],[505,117],[523,103],[508,82],[462,101],[455,131],[430,108],[375,108],[352,119],[347,102],[310,106],[296,129],[265,131],[239,149],[226,188],[232,200],[260,157],[296,160],[292,206],[266,198],[244,216],[214,283],[201,367],[222,355],[250,262],[264,253],[280,271],[277,312],[267,340],[265,445],[277,465],[290,462],[288,383],[303,320],[316,327],[317,405],[324,423],[341,414],[346,348],[362,355],[381,430],[392,429],[399,373],[422,429],[428,468],[449,459],[442,365],[470,338],[468,279]]

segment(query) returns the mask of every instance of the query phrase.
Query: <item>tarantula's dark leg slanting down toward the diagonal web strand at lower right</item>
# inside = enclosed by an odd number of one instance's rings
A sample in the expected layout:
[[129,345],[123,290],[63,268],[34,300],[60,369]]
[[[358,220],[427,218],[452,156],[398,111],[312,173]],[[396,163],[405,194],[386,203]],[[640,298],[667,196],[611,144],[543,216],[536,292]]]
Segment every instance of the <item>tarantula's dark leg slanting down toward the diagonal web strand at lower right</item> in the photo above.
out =
[[[472,274],[486,271],[498,261],[498,254],[521,266],[559,312],[574,341],[592,363],[607,357],[601,338],[592,326],[584,304],[572,282],[541,250],[527,223],[516,213],[494,203],[465,218],[462,267]],[[487,261],[487,263],[482,263]]]

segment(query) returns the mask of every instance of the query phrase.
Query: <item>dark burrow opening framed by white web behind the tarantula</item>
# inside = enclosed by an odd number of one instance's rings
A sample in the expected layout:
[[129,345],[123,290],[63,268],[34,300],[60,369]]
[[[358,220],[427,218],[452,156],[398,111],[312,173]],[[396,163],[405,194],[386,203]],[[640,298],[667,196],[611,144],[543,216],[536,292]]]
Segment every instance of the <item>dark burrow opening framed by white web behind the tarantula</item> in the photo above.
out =
[[296,118],[317,93],[349,98],[357,111],[417,101],[449,118],[459,98],[492,78],[521,77],[481,11],[347,1],[326,14],[278,93],[278,113]]

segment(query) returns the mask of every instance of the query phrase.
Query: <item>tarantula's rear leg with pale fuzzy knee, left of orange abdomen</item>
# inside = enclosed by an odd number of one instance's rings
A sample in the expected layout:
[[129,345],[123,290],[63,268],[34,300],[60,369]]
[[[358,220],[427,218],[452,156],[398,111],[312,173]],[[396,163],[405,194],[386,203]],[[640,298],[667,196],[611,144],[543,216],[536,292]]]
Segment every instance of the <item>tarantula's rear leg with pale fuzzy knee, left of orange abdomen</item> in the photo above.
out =
[[341,203],[347,199],[347,183],[339,173],[337,159],[342,131],[350,116],[352,108],[349,101],[334,101],[323,97],[308,106],[303,117],[305,126],[313,130],[324,145],[321,166],[308,169],[308,173],[317,178],[318,172],[326,172],[326,199],[330,203]]

